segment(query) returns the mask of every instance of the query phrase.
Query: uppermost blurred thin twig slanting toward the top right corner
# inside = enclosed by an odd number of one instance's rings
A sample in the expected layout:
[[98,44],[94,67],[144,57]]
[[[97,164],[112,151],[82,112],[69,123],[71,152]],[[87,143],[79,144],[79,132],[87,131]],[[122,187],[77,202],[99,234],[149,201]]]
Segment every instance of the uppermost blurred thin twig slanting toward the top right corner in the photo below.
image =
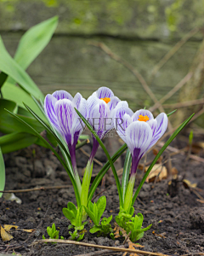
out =
[[181,40],[170,49],[167,54],[157,63],[151,72],[150,81],[155,77],[156,73],[164,66],[164,64],[181,48],[190,38],[192,38],[197,32],[200,31],[200,28],[194,28],[190,32],[184,35]]

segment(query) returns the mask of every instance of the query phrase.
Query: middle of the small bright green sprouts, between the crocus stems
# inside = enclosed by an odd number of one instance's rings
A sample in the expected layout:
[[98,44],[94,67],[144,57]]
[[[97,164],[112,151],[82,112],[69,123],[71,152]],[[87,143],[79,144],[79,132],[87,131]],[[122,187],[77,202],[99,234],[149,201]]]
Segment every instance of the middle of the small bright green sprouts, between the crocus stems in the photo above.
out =
[[97,203],[92,203],[91,201],[89,201],[88,207],[84,207],[85,211],[88,213],[89,218],[91,218],[91,220],[94,222],[94,226],[91,228],[91,230],[89,230],[90,233],[94,234],[98,232],[98,236],[101,236],[102,234],[104,236],[107,236],[112,232],[110,224],[112,215],[109,218],[103,218],[100,222],[100,218],[105,212],[105,207],[105,195],[101,196]]

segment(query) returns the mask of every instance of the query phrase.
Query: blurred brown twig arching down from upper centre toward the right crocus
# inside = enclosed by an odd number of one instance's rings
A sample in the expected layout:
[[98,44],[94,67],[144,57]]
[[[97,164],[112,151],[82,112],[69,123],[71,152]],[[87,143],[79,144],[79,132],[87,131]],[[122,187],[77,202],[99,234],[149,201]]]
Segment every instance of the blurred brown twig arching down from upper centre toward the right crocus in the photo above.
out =
[[154,95],[154,93],[152,92],[152,90],[150,90],[149,85],[146,83],[146,81],[144,80],[144,77],[139,73],[139,71],[133,67],[129,62],[127,62],[126,60],[122,59],[120,56],[116,55],[115,53],[113,53],[111,51],[111,49],[109,49],[105,44],[103,43],[99,43],[99,42],[89,42],[88,44],[90,45],[94,45],[95,47],[99,47],[100,49],[102,49],[107,55],[109,55],[114,61],[117,61],[118,63],[121,63],[123,67],[126,67],[131,73],[133,73],[133,75],[139,80],[139,83],[143,86],[144,90],[147,92],[147,94],[150,96],[151,100],[155,103],[159,104],[159,110],[161,112],[164,112],[161,104],[158,102],[158,100],[156,99],[156,96]]

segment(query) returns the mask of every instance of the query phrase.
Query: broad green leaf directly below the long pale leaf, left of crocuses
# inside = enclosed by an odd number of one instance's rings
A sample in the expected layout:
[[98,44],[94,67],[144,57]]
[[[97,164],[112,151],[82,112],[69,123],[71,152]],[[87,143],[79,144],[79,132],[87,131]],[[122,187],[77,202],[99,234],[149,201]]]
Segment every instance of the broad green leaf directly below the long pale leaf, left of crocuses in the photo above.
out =
[[5,86],[2,88],[2,93],[4,99],[17,103],[17,105],[21,108],[25,108],[23,103],[25,102],[30,106],[31,109],[33,109],[35,113],[37,113],[37,115],[39,115],[43,121],[46,121],[44,115],[37,107],[36,102],[34,102],[31,96],[25,90],[22,90],[19,86],[6,82]]

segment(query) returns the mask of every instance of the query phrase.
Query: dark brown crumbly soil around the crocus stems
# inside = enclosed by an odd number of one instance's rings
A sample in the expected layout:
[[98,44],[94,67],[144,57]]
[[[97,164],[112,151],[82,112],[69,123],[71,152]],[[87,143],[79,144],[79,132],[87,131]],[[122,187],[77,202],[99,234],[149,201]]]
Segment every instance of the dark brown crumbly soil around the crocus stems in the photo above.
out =
[[[116,138],[105,140],[107,148],[114,150],[118,141]],[[110,146],[111,145],[111,146]],[[184,142],[175,142],[175,147],[186,146]],[[112,148],[111,148],[112,147]],[[90,154],[91,144],[85,145],[83,149]],[[168,152],[168,151],[167,151]],[[166,153],[167,155],[167,153]],[[152,156],[148,156],[150,160]],[[106,157],[102,149],[96,158],[105,163]],[[51,187],[71,185],[71,181],[60,165],[56,157],[46,148],[31,146],[4,155],[6,165],[6,190],[8,189],[31,189],[36,187]],[[81,173],[87,164],[88,157],[77,150],[78,170]],[[122,167],[124,155],[116,162],[116,169]],[[166,253],[169,255],[201,255],[204,253],[204,204],[197,201],[198,196],[184,187],[182,177],[191,183],[197,183],[197,188],[204,189],[204,163],[187,160],[185,154],[173,156],[173,166],[178,169],[178,179],[173,180],[174,186],[169,186],[167,180],[159,183],[144,183],[139,193],[139,200],[134,204],[135,212],[142,212],[144,224],[152,224],[150,230],[146,231],[144,237],[138,242],[144,246],[141,250],[149,252]],[[100,166],[94,164],[94,173],[99,172]],[[140,172],[139,172],[140,174]],[[140,177],[137,178],[136,186]],[[111,222],[114,226],[114,217],[119,212],[119,201],[114,178],[109,171],[106,174],[105,183],[96,191],[98,195],[107,197],[107,206],[104,217],[113,215]],[[204,196],[202,191],[199,191]],[[37,244],[31,246],[33,241],[42,239],[44,234],[48,238],[47,226],[53,223],[59,230],[59,236],[69,239],[70,222],[64,217],[62,208],[66,207],[68,201],[76,204],[74,191],[71,188],[38,190],[26,193],[15,193],[22,201],[21,204],[15,201],[0,199],[0,224],[15,224],[20,229],[35,229],[32,233],[23,230],[11,230],[14,236],[11,241],[0,240],[0,253],[20,253],[26,256],[64,256],[80,255],[94,252],[93,247],[82,247],[77,245],[56,245]],[[96,197],[94,201],[97,201]],[[89,227],[92,225],[88,223]],[[86,227],[86,226],[85,226]],[[87,230],[89,230],[87,226]],[[25,242],[26,241],[26,242]],[[105,246],[122,245],[123,239],[115,241],[110,237],[97,237],[86,232],[84,242]],[[112,253],[103,255],[122,255],[122,253]],[[94,254],[93,254],[94,255]],[[202,254],[203,255],[203,254]]]

